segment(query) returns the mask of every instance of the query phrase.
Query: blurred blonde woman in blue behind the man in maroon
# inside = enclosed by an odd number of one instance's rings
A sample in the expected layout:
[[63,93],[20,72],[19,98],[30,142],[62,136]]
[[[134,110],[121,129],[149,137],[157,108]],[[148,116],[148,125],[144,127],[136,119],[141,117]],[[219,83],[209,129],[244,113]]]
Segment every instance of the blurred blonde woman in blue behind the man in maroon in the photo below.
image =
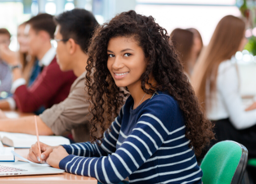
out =
[[26,22],[22,23],[18,26],[17,31],[17,40],[19,44],[19,55],[18,60],[22,65],[22,75],[26,80],[26,85],[31,86],[34,83],[37,76],[41,73],[41,66],[39,66],[39,61],[35,58],[35,56],[31,56],[28,45],[28,35],[27,30],[29,25]]

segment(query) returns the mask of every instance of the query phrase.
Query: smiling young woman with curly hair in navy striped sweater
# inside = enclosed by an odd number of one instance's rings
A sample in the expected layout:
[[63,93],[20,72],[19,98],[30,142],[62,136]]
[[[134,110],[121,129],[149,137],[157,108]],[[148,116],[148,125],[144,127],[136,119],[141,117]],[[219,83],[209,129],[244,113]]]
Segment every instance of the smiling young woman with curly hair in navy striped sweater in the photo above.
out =
[[[213,137],[212,125],[166,30],[151,16],[124,12],[97,28],[88,55],[91,138],[98,144],[41,143],[41,159],[102,183],[129,177],[135,184],[201,184],[195,153]],[[131,95],[119,112],[124,88]],[[36,144],[28,158],[41,160]]]

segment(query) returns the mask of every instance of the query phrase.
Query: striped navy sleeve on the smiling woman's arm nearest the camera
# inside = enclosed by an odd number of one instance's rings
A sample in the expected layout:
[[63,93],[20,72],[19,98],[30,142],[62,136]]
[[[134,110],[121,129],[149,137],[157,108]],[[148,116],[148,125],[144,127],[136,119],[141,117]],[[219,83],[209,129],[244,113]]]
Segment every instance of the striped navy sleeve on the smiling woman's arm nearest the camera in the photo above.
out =
[[[170,104],[165,101],[163,103],[167,104],[148,103],[131,134],[115,153],[99,158],[69,155],[62,159],[59,167],[73,174],[95,177],[102,183],[119,183],[124,180],[145,163],[170,134],[170,109],[166,108]],[[119,134],[118,126],[115,121],[108,137]],[[112,146],[109,143],[106,145],[109,146],[107,148]]]

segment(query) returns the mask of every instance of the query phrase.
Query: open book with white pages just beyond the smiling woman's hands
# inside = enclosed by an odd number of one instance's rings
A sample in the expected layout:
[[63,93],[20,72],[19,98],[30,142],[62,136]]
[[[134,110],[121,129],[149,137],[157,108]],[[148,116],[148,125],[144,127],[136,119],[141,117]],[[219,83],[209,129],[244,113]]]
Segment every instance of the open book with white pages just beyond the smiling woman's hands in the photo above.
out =
[[[10,133],[0,131],[0,140],[4,145],[12,146],[14,148],[31,148],[35,144],[36,136],[22,133]],[[39,136],[40,142],[50,145],[69,145],[69,139],[62,136]]]

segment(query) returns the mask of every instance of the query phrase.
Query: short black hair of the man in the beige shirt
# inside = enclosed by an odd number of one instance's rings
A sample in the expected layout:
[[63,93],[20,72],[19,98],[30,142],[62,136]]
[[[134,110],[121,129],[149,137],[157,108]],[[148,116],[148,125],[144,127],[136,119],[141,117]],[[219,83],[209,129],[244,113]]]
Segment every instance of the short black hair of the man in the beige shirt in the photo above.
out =
[[85,9],[72,9],[58,15],[55,21],[60,25],[63,39],[72,38],[85,53],[88,51],[89,40],[98,25],[93,13]]

